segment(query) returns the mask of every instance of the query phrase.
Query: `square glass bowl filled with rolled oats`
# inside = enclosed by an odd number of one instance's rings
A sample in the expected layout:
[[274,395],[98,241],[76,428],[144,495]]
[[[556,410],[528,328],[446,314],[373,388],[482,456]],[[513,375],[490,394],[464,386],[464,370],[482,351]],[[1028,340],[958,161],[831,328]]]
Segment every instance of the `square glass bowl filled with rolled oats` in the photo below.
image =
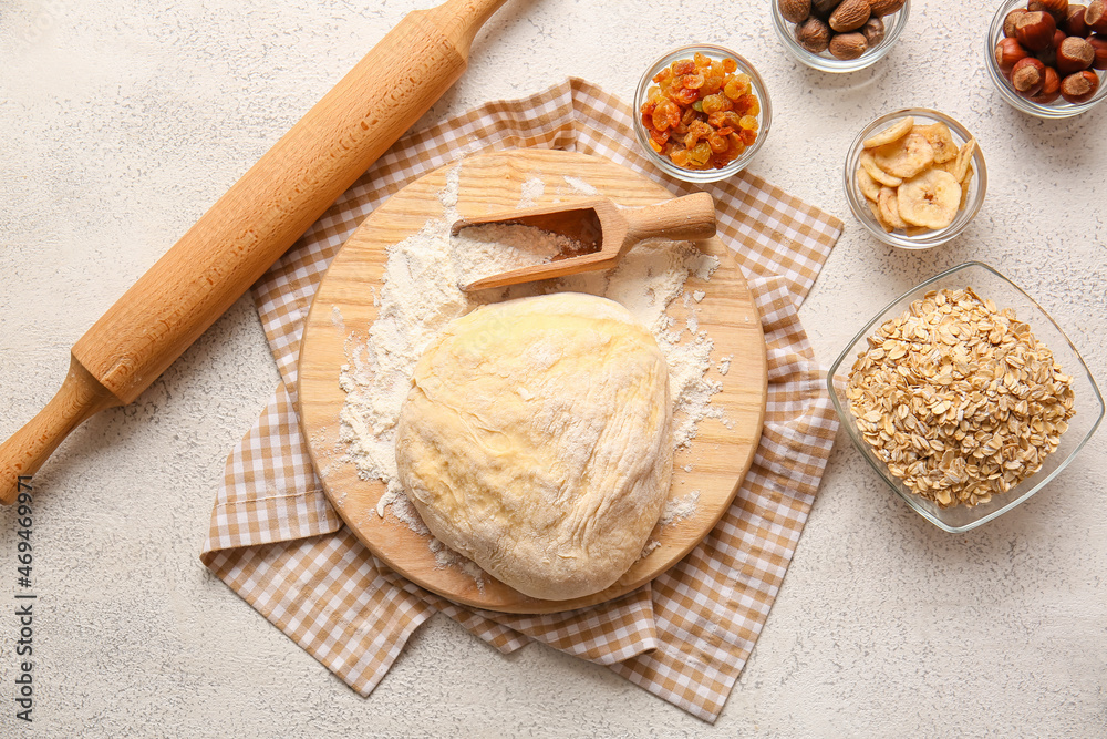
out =
[[1044,487],[1104,418],[1099,388],[1065,332],[976,261],[875,316],[830,367],[827,384],[869,465],[951,533]]

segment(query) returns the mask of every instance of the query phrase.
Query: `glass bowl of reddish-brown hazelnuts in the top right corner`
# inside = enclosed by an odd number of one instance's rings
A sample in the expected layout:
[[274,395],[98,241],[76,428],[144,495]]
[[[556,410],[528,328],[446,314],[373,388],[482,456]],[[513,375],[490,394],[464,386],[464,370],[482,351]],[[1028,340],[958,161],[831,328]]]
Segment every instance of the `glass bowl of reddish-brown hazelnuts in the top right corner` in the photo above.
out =
[[1107,2],[1007,0],[987,31],[987,74],[1016,111],[1079,115],[1107,97]]

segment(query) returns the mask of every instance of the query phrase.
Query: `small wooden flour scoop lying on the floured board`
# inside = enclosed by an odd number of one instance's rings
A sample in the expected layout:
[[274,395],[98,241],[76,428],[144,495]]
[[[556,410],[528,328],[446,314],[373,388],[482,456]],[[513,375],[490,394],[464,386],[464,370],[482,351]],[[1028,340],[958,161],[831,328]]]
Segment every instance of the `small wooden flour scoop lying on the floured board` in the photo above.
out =
[[715,203],[707,193],[694,193],[644,208],[620,208],[606,197],[593,197],[570,205],[509,211],[458,220],[451,227],[451,233],[456,235],[463,228],[488,224],[539,228],[566,236],[587,250],[478,279],[462,287],[465,292],[610,269],[630,247],[646,238],[711,238],[715,235]]

